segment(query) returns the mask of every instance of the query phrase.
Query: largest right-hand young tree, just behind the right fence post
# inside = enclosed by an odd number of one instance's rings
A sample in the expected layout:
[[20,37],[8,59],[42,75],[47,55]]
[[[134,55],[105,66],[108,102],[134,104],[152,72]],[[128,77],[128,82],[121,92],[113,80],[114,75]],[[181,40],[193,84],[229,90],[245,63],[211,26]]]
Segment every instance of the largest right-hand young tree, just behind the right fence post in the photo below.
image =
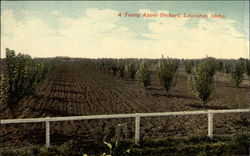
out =
[[198,65],[188,77],[188,87],[192,93],[200,98],[204,104],[209,100],[212,92],[213,74],[209,63]]

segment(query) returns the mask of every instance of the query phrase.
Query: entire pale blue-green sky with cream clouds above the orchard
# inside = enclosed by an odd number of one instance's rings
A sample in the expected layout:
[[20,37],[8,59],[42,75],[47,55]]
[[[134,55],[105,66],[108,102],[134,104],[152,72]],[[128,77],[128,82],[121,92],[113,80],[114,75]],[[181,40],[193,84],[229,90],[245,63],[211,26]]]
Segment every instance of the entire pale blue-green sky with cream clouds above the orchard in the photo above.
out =
[[6,48],[32,57],[249,58],[249,1],[1,1],[2,58]]

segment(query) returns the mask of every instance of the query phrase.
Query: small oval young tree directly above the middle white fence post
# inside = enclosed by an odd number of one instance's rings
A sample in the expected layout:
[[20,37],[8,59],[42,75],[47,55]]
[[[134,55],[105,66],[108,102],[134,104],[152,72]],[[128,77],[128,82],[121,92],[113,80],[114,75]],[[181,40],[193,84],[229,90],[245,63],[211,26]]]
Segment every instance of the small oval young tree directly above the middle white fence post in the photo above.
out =
[[137,78],[145,88],[151,83],[151,73],[149,71],[148,64],[142,62],[140,64],[139,70],[137,71]]

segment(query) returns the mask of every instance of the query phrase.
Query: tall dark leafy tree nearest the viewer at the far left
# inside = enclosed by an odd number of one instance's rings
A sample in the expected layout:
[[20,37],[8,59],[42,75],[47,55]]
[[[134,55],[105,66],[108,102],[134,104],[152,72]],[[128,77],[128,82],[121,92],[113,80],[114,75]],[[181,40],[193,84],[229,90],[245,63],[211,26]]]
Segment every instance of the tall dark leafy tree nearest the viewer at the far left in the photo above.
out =
[[8,106],[18,102],[30,90],[28,88],[30,64],[30,56],[16,55],[14,50],[6,49],[5,72],[1,78],[1,100]]

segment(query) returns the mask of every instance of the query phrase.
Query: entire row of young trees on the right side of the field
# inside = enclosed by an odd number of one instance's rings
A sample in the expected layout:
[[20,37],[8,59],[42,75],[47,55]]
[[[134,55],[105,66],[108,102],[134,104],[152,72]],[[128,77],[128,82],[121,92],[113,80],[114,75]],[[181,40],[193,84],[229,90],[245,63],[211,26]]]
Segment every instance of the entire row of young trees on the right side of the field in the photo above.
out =
[[[97,61],[98,62],[98,61]],[[108,70],[112,71],[113,75],[118,75],[123,79],[127,75],[132,81],[137,78],[138,82],[145,88],[151,83],[152,66],[156,65],[156,73],[158,80],[164,91],[168,91],[171,87],[176,85],[177,82],[177,69],[179,60],[174,59],[161,59],[158,63],[143,61],[140,63],[122,61],[111,61]],[[229,68],[226,68],[230,64]],[[97,65],[98,66],[98,65]],[[105,61],[102,68],[105,68]],[[244,72],[250,76],[250,61],[239,59],[236,61],[218,61],[212,57],[207,57],[202,60],[185,60],[184,67],[189,74],[187,84],[189,90],[203,102],[203,106],[209,100],[212,90],[214,75],[216,71],[223,72],[224,70],[230,76],[232,83],[239,87],[243,81]],[[125,73],[125,74],[124,74]]]

